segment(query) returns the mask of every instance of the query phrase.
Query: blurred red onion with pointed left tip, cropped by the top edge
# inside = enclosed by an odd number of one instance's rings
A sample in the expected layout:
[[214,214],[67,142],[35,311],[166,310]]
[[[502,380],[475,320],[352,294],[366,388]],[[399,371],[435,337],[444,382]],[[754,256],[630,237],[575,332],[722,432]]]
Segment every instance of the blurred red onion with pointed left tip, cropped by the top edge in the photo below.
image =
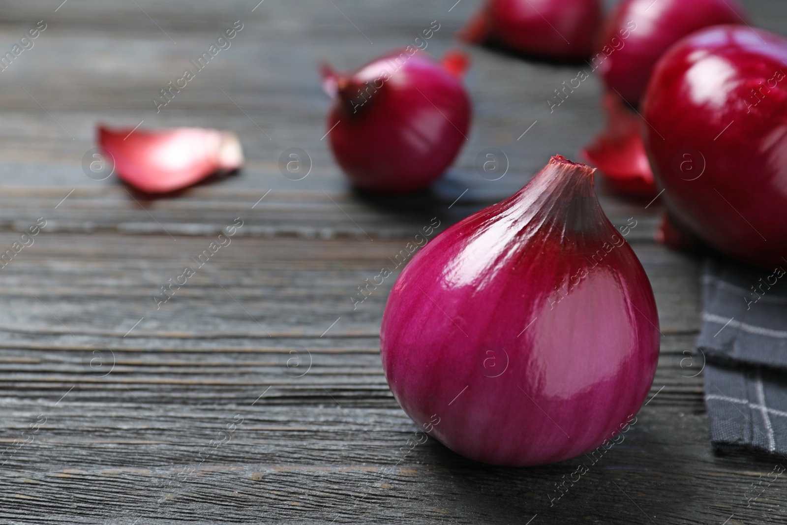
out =
[[581,60],[590,54],[600,18],[599,0],[488,0],[460,36],[538,57]]

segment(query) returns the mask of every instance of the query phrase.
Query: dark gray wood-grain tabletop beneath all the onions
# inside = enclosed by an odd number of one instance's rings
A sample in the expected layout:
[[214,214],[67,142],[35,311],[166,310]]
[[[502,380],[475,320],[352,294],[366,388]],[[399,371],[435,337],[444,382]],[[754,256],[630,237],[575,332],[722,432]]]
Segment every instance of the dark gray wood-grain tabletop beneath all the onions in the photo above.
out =
[[[357,309],[350,298],[432,217],[444,229],[549,155],[577,157],[603,124],[599,80],[554,113],[546,100],[582,66],[471,48],[475,121],[456,165],[428,194],[371,198],[322,139],[317,63],[352,68],[432,20],[440,55],[476,0],[60,1],[0,9],[3,52],[46,24],[0,72],[0,252],[46,220],[0,271],[0,440],[19,446],[0,467],[2,523],[784,523],[784,480],[747,506],[777,460],[708,442],[699,259],[652,242],[659,201],[604,187],[611,220],[637,220],[628,239],[664,334],[625,441],[553,506],[576,460],[489,467],[430,439],[380,474],[416,430],[379,360],[393,279]],[[746,3],[783,31],[787,4]],[[153,98],[235,20],[231,47],[157,113]],[[235,130],[246,168],[148,198],[86,176],[98,122]],[[305,179],[279,169],[292,147],[309,154]],[[475,170],[487,147],[508,157],[500,180]],[[160,287],[238,217],[231,245],[157,309]]]

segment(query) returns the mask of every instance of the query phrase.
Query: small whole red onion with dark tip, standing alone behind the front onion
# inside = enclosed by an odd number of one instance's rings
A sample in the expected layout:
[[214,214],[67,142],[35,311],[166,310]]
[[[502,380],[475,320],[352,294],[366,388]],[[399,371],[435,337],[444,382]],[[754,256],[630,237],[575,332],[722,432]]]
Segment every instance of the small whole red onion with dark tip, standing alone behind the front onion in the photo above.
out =
[[401,194],[442,175],[470,127],[466,65],[459,52],[441,64],[408,46],[346,75],[323,68],[323,88],[335,97],[327,135],[353,184]]

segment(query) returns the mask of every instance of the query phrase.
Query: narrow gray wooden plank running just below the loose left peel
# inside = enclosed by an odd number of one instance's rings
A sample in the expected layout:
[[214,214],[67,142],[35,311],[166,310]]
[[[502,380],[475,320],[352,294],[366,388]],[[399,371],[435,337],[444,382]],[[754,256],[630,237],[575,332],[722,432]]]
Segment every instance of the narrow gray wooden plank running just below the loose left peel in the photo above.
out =
[[[235,231],[236,236],[371,241],[398,238],[404,246],[416,234],[423,233],[423,227],[438,225],[437,231],[443,231],[486,207],[490,204],[488,197],[482,187],[464,195],[460,192],[456,197],[426,193],[405,198],[352,192],[198,187],[179,197],[156,199],[131,194],[120,187],[51,187],[46,191],[17,187],[6,188],[0,194],[0,231],[24,232],[41,219],[41,224],[46,221],[42,229],[46,234],[105,231],[159,233],[176,238],[219,235],[233,224],[242,224]],[[600,201],[613,224],[634,225],[626,237],[629,242],[652,242],[660,221],[658,199],[646,209],[646,201],[622,201],[602,190]]]

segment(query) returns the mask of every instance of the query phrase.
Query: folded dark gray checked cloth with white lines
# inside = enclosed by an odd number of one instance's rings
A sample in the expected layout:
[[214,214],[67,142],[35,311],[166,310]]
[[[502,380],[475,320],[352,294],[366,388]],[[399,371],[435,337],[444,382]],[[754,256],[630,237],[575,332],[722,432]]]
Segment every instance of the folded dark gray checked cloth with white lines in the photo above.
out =
[[711,443],[787,453],[787,261],[710,257],[703,271],[705,403]]

